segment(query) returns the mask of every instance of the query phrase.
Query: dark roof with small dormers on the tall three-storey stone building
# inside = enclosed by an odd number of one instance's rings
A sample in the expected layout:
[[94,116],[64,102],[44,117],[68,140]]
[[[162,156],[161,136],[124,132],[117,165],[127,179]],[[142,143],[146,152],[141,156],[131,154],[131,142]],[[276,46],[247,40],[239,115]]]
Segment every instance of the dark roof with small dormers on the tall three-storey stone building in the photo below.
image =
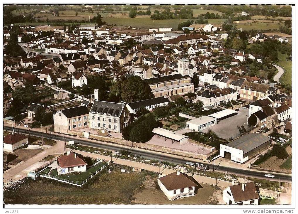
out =
[[90,113],[96,113],[96,114],[111,114],[112,116],[117,115],[119,117],[122,113],[122,110],[124,108],[124,105],[122,103],[113,103],[113,102],[106,102],[106,101],[100,101],[95,100]]

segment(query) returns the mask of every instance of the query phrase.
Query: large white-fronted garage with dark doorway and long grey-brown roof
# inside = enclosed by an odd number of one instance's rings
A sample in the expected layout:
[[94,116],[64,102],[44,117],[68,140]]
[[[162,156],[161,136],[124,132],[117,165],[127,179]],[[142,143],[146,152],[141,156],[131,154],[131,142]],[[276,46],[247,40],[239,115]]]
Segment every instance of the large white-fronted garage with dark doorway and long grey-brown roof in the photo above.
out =
[[271,139],[262,133],[248,133],[226,145],[220,144],[219,156],[231,158],[235,162],[244,163],[269,148],[270,145]]

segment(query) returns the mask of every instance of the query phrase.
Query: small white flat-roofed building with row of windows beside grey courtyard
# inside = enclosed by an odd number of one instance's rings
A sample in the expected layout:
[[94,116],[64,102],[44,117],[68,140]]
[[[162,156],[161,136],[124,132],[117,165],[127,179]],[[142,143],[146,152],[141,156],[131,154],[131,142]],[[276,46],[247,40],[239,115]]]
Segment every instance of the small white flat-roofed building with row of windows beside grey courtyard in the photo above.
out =
[[195,130],[200,132],[211,126],[216,125],[217,119],[209,116],[201,116],[199,118],[190,120],[186,122],[186,127],[190,130]]

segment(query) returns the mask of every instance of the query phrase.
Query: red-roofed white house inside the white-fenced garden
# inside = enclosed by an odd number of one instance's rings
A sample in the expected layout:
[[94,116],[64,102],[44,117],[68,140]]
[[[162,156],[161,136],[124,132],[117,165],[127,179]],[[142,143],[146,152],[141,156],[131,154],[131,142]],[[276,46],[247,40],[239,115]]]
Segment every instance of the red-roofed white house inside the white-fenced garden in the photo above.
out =
[[66,154],[58,157],[57,161],[60,167],[57,168],[58,175],[86,171],[87,163],[85,158],[72,151],[67,151]]

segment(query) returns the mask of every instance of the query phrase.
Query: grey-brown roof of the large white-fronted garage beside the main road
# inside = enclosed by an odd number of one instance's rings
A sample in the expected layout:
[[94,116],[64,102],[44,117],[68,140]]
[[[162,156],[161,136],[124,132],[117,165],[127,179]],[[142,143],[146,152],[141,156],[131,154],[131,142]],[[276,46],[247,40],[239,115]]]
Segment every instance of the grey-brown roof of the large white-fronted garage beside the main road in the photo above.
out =
[[271,141],[271,139],[264,136],[262,133],[248,133],[231,141],[230,143],[226,144],[226,146],[243,150],[244,156],[249,151],[259,147],[260,145],[263,145],[268,141]]

